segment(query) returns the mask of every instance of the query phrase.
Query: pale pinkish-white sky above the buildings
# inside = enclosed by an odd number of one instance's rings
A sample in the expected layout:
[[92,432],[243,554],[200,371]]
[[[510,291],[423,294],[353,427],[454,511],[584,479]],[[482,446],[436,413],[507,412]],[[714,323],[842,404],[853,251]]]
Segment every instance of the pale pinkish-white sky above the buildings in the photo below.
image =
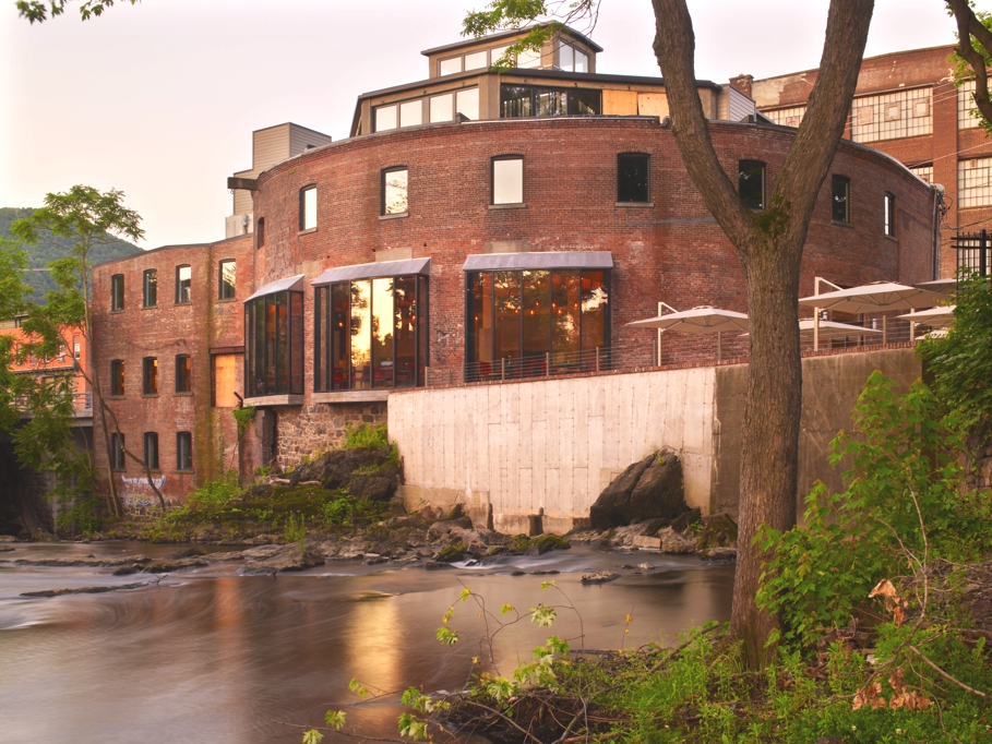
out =
[[[124,2],[124,0],[119,0]],[[292,121],[348,135],[363,92],[427,77],[486,0],[143,0],[41,25],[0,0],[0,206],[76,183],[116,188],[143,248],[224,238],[226,179],[251,132]],[[987,7],[989,2],[979,2]],[[828,0],[690,0],[696,75],[815,68]],[[648,0],[602,0],[599,72],[658,75]],[[865,56],[954,41],[943,0],[877,0]]]

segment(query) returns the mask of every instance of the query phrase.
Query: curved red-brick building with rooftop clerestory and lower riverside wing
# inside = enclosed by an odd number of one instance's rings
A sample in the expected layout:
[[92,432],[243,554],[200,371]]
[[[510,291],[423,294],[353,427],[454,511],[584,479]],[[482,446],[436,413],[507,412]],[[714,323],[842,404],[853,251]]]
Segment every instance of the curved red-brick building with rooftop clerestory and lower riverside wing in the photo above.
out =
[[[489,64],[512,38],[428,50],[430,77],[361,96],[349,139],[230,179],[250,233],[94,272],[96,363],[122,380],[124,443],[154,456],[168,497],[236,461],[238,397],[260,409],[247,471],[384,420],[405,388],[715,359],[713,338],[672,334],[659,351],[626,325],[662,300],[745,309],[733,245],[662,116],[664,83],[595,73],[599,48],[571,32],[500,79]],[[763,208],[794,132],[753,123],[728,85],[698,87],[727,172]],[[850,194],[839,216],[836,183]],[[898,161],[842,143],[801,291],[814,276],[934,278],[934,202]],[[725,357],[744,352],[724,341]],[[115,465],[145,499],[141,469]]]

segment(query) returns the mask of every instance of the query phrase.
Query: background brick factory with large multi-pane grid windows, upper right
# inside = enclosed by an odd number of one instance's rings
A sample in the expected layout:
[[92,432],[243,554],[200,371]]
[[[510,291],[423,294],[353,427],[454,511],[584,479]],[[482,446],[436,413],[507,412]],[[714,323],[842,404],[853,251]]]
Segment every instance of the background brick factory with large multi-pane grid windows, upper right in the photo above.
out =
[[[992,229],[992,141],[971,111],[975,85],[954,85],[953,46],[865,59],[845,136],[892,155],[943,188],[941,276],[957,269],[958,233]],[[798,127],[816,70],[732,81],[774,122]],[[853,194],[852,194],[853,196]]]

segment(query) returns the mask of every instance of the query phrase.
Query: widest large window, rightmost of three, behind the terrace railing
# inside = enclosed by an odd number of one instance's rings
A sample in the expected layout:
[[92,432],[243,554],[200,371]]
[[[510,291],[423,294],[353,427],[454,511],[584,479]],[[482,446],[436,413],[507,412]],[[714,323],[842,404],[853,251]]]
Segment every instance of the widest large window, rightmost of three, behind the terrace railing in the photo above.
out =
[[467,281],[467,380],[598,368],[610,344],[609,272],[471,272]]

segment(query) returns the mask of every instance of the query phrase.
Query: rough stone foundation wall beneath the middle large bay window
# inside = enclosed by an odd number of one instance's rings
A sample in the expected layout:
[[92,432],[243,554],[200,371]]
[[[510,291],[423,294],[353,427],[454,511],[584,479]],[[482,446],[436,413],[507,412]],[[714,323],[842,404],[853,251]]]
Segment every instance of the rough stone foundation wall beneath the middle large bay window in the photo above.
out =
[[276,415],[275,465],[285,470],[316,452],[345,441],[348,424],[386,422],[386,404],[334,403],[279,410]]

